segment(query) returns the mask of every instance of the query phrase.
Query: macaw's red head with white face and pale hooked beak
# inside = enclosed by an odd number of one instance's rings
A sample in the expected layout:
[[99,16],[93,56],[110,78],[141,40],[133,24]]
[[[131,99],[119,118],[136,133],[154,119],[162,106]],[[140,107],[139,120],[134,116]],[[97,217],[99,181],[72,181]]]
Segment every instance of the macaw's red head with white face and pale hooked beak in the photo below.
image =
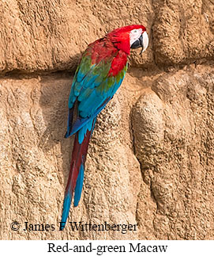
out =
[[107,38],[127,54],[130,54],[130,48],[142,47],[144,52],[148,47],[148,34],[143,25],[130,25],[115,29],[107,34]]

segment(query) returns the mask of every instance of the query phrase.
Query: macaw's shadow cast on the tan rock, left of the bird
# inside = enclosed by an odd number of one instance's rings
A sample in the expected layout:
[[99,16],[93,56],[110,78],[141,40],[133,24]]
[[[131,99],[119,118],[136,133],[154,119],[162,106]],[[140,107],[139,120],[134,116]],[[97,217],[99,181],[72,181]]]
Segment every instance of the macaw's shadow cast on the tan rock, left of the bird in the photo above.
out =
[[64,176],[64,185],[69,174],[69,161],[73,149],[73,138],[65,139],[68,98],[72,75],[58,73],[41,78],[41,96],[39,105],[43,112],[45,131],[39,139],[39,147],[44,155],[55,163],[57,176],[62,183],[61,172]]

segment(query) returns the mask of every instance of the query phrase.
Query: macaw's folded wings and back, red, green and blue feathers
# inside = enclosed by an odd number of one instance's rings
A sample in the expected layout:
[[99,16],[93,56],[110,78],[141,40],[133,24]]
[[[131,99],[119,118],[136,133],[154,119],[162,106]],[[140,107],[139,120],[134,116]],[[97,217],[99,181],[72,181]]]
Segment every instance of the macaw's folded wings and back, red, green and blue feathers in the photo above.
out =
[[[126,54],[105,40],[91,44],[84,52],[73,78],[69,95],[69,120],[66,137],[73,135],[107,105],[121,85],[127,70]],[[114,70],[112,70],[114,68]],[[118,69],[115,72],[115,68]],[[73,124],[73,105],[77,101],[77,120]],[[89,123],[92,123],[91,121]],[[88,127],[89,128],[89,127]],[[87,126],[81,129],[82,136]]]

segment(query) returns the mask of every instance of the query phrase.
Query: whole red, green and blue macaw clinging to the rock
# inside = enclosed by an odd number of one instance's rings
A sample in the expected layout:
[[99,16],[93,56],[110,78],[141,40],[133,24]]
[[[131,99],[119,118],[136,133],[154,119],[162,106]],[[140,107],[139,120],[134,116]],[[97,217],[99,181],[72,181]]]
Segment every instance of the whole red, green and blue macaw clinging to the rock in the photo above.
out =
[[[126,75],[130,48],[142,48],[141,52],[144,52],[147,47],[148,34],[145,26],[129,25],[115,29],[89,44],[82,54],[69,94],[69,117],[65,137],[75,134],[75,140],[60,230],[66,225],[73,193],[74,206],[81,199],[84,163],[96,117],[114,96]],[[77,109],[75,121],[74,109]]]

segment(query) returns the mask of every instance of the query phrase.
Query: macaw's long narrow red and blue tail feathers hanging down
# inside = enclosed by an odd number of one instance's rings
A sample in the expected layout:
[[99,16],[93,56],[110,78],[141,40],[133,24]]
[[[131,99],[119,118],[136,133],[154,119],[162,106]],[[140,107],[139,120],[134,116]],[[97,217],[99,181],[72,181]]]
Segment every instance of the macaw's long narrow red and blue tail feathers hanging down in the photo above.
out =
[[[69,179],[66,185],[66,192],[63,202],[63,210],[62,210],[62,220],[60,223],[60,230],[66,226],[66,220],[69,216],[69,208],[73,197],[74,192],[74,201],[73,205],[76,207],[81,199],[81,191],[83,187],[84,180],[84,163],[86,160],[86,155],[88,152],[88,143],[92,136],[92,132],[94,129],[94,125],[96,123],[96,118],[92,120],[92,126],[88,128],[84,128],[84,139],[82,137],[82,131],[76,133],[72,159],[70,162],[70,171],[69,171]],[[83,129],[83,128],[82,128]]]

